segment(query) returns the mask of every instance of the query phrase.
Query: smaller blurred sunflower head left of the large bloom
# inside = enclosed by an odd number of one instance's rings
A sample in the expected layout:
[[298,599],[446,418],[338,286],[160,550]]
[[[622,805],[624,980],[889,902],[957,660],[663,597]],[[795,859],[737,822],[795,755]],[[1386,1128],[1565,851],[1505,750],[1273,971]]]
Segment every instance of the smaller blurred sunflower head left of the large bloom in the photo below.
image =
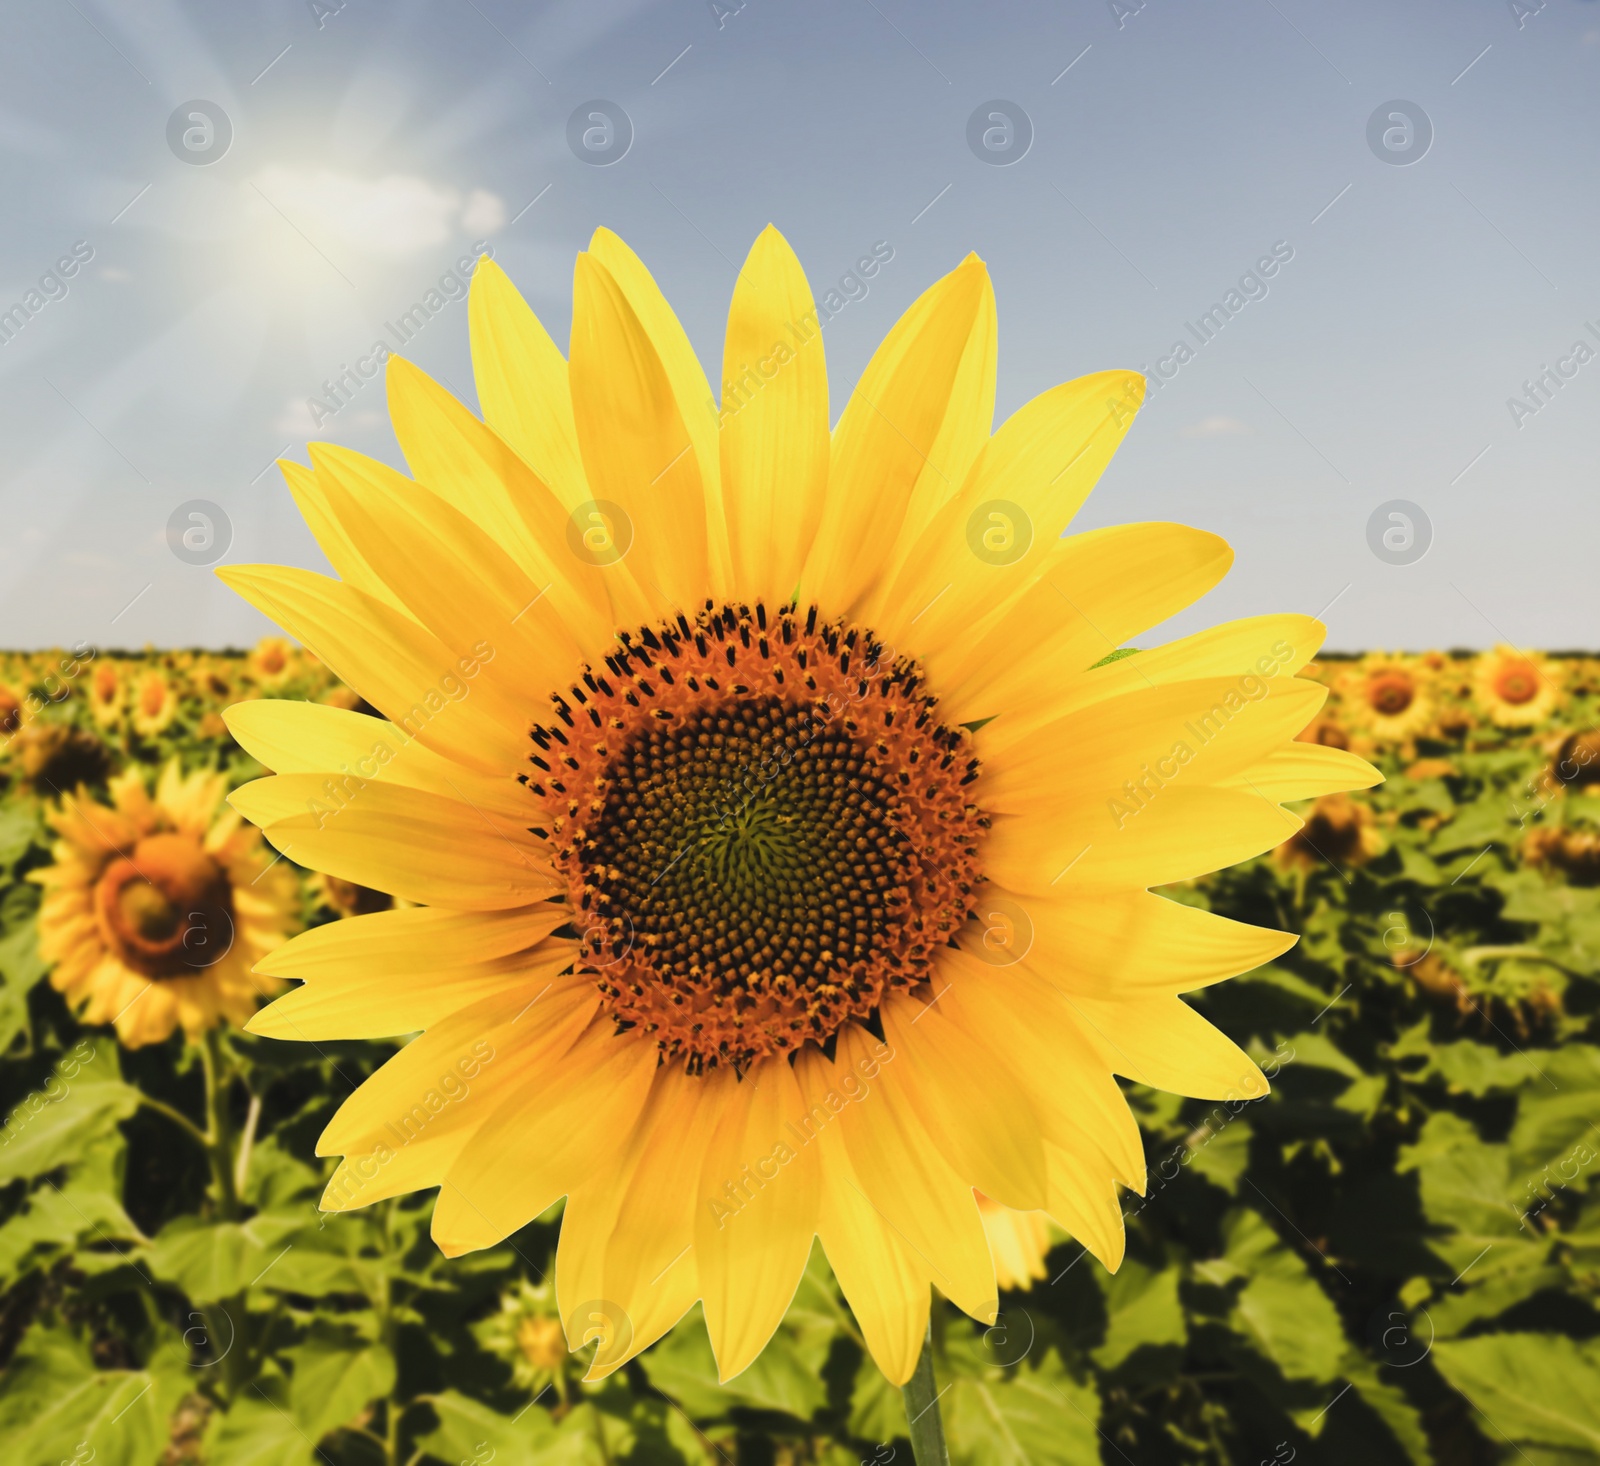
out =
[[115,1023],[130,1048],[179,1024],[190,1039],[242,1024],[282,986],[251,967],[290,930],[296,879],[221,808],[226,787],[221,773],[181,778],[174,759],[154,799],[128,770],[109,805],[80,787],[48,816],[56,863],[29,872],[45,887],[40,955],[78,1018]]

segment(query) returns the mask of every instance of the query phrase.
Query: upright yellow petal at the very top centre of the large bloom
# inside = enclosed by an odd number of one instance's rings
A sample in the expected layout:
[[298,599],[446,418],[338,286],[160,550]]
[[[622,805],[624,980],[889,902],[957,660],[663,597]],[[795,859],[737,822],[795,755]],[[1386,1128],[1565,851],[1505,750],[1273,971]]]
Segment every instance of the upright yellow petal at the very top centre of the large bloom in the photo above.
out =
[[781,605],[800,583],[827,493],[827,365],[811,286],[771,224],[733,288],[720,421],[736,594]]

